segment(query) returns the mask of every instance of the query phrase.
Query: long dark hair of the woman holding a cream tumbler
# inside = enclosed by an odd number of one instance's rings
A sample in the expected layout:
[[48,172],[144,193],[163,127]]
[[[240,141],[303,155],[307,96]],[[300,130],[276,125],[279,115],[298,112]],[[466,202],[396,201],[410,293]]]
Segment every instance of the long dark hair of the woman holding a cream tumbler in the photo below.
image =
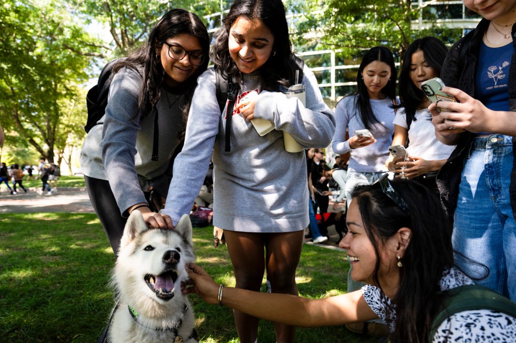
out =
[[288,37],[283,3],[281,0],[236,0],[222,20],[222,26],[215,35],[211,59],[224,78],[237,80],[241,78],[241,72],[229,53],[229,31],[239,17],[260,20],[274,36],[272,53],[260,68],[260,75],[267,90],[277,90],[293,74],[293,67],[289,62],[292,58],[292,43]]

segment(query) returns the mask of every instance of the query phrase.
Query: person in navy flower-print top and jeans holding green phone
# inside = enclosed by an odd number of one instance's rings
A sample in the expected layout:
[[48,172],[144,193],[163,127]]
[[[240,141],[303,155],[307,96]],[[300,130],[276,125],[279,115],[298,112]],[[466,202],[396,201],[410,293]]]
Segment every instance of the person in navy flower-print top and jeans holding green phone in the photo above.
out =
[[[463,0],[482,15],[451,47],[442,89],[458,103],[429,109],[437,138],[457,144],[441,168],[441,201],[454,220],[454,249],[489,267],[479,284],[516,300],[516,0]],[[440,112],[438,111],[440,108]],[[468,274],[479,271],[457,260]]]

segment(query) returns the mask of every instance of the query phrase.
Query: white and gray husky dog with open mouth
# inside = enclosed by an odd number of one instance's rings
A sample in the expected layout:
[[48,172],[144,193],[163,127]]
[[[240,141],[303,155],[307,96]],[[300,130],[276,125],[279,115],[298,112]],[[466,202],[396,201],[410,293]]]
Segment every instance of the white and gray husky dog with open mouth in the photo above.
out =
[[194,261],[188,215],[174,230],[162,230],[148,228],[140,211],[133,211],[112,274],[118,304],[107,341],[197,342],[193,311],[181,292],[185,265]]

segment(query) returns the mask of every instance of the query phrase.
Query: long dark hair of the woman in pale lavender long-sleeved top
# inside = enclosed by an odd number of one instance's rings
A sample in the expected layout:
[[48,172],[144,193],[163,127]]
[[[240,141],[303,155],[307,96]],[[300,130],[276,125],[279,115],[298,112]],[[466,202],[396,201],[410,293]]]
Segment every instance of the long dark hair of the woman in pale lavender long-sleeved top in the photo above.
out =
[[394,64],[394,56],[385,46],[372,47],[367,51],[367,53],[365,53],[362,58],[362,62],[360,63],[357,73],[357,91],[354,93],[357,95],[354,107],[358,109],[362,123],[364,123],[364,126],[367,129],[371,129],[371,126],[375,123],[380,123],[371,108],[369,93],[367,92],[367,87],[365,86],[364,79],[362,77],[362,72],[365,67],[374,61],[385,62],[389,67],[391,67],[391,78],[385,87],[381,89],[381,92],[390,99],[396,99],[396,66]]

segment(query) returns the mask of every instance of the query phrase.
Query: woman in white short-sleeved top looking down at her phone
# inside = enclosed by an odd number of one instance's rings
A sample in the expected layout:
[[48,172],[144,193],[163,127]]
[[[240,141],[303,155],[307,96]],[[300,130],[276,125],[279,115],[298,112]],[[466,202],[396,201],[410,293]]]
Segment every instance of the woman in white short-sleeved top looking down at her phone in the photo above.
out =
[[396,177],[415,179],[437,194],[436,175],[455,146],[441,143],[434,135],[428,111],[431,102],[421,84],[439,76],[447,52],[446,45],[435,37],[416,39],[407,49],[399,73],[400,110],[394,119],[392,145],[405,145],[408,138],[409,160],[391,155],[385,161]]

